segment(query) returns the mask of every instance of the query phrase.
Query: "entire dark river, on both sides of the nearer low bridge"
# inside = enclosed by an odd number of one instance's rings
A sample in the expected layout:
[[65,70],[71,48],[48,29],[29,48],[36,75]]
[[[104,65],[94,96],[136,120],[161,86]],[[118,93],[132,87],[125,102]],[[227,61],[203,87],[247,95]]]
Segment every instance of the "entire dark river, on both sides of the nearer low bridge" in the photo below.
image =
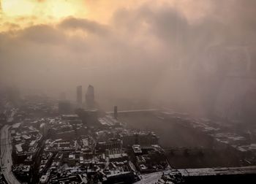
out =
[[[129,128],[154,131],[159,137],[159,145],[164,148],[181,149],[166,157],[174,168],[204,168],[217,166],[241,166],[241,158],[231,150],[213,150],[213,140],[203,132],[183,126],[176,120],[167,120],[154,113],[120,114],[118,119]],[[183,147],[183,148],[180,148]],[[188,149],[188,153],[184,152]]]

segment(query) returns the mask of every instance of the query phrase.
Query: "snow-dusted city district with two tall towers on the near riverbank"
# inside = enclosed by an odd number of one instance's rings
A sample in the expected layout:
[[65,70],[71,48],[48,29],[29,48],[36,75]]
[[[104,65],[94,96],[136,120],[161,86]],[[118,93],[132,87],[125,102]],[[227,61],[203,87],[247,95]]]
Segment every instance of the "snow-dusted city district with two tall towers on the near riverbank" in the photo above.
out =
[[86,107],[81,87],[77,92],[72,113],[65,104],[63,109],[64,101],[59,101],[57,114],[42,101],[17,110],[10,136],[12,172],[20,182],[134,183],[141,173],[168,167],[154,132],[125,128],[117,107],[113,116],[100,112],[91,85]]

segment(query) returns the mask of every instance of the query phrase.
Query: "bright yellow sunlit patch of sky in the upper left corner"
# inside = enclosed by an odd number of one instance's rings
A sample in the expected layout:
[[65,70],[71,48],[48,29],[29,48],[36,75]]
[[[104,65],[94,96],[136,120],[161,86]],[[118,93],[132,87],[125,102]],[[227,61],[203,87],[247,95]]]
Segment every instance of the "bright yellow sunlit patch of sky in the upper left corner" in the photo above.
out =
[[62,18],[69,16],[83,17],[88,10],[83,0],[67,1],[35,1],[35,0],[2,0],[1,1],[3,25],[0,31],[7,31],[10,23],[15,23],[20,28],[31,25],[57,23]]

